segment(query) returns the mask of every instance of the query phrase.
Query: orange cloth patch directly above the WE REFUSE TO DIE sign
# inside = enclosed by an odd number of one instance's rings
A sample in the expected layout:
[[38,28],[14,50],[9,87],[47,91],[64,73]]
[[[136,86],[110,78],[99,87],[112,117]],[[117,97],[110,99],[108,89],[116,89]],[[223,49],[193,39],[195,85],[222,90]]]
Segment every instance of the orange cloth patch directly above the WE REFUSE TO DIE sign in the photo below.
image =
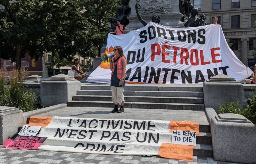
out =
[[170,132],[172,130],[194,131],[199,134],[199,124],[193,121],[170,121]]

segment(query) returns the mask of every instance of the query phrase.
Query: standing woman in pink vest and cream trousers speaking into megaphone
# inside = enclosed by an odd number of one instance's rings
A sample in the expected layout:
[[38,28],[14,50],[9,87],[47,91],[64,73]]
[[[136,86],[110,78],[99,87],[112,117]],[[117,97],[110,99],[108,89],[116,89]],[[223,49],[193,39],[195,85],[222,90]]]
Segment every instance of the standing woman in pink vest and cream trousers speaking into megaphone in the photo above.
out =
[[[126,72],[126,57],[124,56],[123,49],[121,46],[115,46],[114,49],[116,57],[110,59],[110,70],[111,70],[111,91],[112,91],[112,102],[115,104],[115,108],[111,111],[112,113],[124,112],[124,87],[125,87],[125,72]],[[118,110],[118,104],[120,109]]]

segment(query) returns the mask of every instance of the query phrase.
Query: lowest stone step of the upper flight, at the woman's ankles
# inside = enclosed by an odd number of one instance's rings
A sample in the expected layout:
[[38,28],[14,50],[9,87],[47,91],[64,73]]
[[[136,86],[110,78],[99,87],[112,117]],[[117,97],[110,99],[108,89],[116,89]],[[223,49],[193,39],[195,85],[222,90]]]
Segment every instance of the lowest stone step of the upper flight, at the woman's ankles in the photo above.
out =
[[[113,107],[112,101],[69,101],[72,107]],[[124,108],[204,110],[204,104],[125,102]]]

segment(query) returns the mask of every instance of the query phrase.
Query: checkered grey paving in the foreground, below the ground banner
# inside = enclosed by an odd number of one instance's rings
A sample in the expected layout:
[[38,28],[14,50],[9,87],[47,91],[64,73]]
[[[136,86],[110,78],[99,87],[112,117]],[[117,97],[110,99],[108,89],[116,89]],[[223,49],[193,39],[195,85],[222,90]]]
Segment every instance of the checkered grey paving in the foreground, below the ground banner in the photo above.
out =
[[[12,164],[228,164],[214,161],[212,158],[195,157],[193,162],[171,160],[159,157],[121,156],[55,152],[42,150],[6,149],[0,145],[0,163]],[[229,163],[231,164],[231,163]],[[236,163],[232,163],[236,164]]]

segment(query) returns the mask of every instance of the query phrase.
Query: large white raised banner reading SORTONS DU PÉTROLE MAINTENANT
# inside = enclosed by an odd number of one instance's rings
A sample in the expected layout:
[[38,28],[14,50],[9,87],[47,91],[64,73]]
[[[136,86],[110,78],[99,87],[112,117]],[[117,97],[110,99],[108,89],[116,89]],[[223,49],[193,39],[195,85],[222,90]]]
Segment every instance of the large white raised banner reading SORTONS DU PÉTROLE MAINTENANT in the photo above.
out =
[[[202,83],[225,74],[241,81],[251,69],[229,48],[220,25],[172,28],[154,22],[124,35],[108,34],[106,53],[121,46],[127,58],[128,83]],[[109,61],[89,82],[110,83]]]

